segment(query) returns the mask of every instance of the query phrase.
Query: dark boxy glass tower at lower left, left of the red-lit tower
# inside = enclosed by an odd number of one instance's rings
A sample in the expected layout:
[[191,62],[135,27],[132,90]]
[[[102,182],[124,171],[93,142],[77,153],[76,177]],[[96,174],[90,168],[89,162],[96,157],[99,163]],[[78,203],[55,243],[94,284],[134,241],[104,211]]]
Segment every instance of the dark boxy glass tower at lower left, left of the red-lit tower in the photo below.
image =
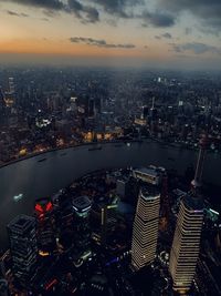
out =
[[12,272],[22,286],[31,285],[36,267],[35,218],[19,215],[8,225]]

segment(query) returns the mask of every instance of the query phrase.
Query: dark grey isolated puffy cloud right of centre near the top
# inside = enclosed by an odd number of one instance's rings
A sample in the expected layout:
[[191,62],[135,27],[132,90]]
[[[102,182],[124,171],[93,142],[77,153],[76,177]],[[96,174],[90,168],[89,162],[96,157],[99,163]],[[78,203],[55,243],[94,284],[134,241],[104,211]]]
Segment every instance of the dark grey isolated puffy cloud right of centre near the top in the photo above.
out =
[[176,18],[172,14],[169,13],[162,13],[162,12],[149,12],[144,11],[143,12],[143,27],[148,27],[149,24],[152,27],[172,27],[175,25]]

